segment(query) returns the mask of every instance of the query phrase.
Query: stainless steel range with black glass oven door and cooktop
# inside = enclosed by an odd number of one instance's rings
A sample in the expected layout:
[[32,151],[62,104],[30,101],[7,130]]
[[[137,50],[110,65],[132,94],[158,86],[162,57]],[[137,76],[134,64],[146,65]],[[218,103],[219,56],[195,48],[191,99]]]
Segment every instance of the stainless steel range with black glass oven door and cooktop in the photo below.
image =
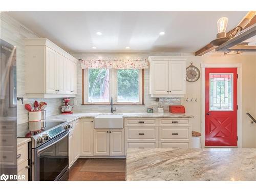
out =
[[18,138],[31,138],[29,151],[32,181],[68,180],[71,126],[67,122],[51,121],[19,125]]

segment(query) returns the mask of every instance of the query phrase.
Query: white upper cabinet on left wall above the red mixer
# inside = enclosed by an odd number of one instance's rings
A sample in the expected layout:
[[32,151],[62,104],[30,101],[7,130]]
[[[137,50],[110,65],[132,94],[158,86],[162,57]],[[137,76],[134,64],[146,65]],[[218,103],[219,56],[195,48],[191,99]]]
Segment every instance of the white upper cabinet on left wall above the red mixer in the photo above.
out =
[[25,39],[28,98],[75,97],[77,59],[46,38]]

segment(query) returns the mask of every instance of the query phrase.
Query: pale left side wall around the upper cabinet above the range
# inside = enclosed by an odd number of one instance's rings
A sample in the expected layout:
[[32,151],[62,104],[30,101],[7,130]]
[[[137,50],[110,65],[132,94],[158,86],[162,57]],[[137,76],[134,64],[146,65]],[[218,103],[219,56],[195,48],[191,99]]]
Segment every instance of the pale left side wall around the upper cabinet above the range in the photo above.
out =
[[[37,34],[18,23],[15,19],[6,13],[1,13],[1,34],[0,38],[16,46],[17,48],[17,96],[24,97],[25,103],[32,103],[35,99],[28,99],[25,94],[25,47],[24,38],[37,38]],[[61,99],[37,99],[48,103],[46,108],[47,116],[59,113]],[[17,102],[17,123],[28,122],[28,112],[24,108],[24,104]]]

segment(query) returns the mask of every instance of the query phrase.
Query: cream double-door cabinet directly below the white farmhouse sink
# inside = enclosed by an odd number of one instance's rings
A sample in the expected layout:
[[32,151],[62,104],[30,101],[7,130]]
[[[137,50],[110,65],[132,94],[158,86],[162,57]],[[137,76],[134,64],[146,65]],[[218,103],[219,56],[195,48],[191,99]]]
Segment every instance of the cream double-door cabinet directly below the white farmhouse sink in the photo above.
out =
[[123,155],[123,129],[94,129],[94,156]]

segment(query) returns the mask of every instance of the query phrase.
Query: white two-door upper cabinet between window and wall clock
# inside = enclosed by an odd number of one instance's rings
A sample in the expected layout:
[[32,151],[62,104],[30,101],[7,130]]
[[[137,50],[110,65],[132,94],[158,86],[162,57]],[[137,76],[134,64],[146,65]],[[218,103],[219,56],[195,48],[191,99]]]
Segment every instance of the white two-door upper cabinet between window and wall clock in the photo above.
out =
[[150,94],[152,97],[184,97],[186,93],[186,59],[148,57]]

